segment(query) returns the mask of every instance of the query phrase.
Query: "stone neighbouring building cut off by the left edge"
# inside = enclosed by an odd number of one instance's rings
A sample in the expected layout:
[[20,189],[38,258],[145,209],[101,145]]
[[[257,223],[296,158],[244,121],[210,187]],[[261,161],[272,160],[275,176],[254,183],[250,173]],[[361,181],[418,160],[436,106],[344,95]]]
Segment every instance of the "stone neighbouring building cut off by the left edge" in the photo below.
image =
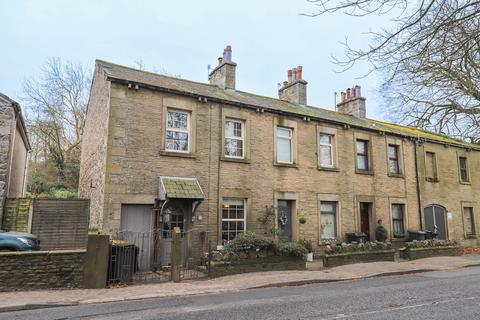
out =
[[25,195],[30,149],[20,105],[0,93],[0,228],[5,199]]

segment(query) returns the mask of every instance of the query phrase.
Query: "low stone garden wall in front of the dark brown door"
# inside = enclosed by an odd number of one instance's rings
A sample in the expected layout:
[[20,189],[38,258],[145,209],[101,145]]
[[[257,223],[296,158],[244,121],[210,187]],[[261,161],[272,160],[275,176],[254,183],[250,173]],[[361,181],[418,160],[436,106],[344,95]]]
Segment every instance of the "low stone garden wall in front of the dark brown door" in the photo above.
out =
[[323,257],[325,267],[337,267],[345,264],[373,261],[394,261],[395,250],[360,251],[326,254]]

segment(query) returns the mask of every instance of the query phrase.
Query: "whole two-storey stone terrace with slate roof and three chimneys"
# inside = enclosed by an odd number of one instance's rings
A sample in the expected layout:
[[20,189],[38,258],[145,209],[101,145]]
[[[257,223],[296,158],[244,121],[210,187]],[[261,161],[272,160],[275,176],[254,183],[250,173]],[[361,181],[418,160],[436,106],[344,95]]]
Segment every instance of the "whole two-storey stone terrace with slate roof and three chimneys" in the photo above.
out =
[[142,268],[169,263],[175,226],[196,257],[268,233],[268,212],[279,238],[310,239],[317,255],[348,232],[374,239],[379,219],[392,241],[476,239],[480,146],[367,119],[358,86],[337,112],[309,106],[301,67],[279,98],[243,92],[230,46],[218,62],[199,83],[96,61],[79,196],[91,228],[142,235]]

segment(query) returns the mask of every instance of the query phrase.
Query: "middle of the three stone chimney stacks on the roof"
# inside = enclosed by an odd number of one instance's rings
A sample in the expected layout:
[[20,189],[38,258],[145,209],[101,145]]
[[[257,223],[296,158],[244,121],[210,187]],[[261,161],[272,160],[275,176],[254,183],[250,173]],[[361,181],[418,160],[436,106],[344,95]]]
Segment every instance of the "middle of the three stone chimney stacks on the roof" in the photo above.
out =
[[302,66],[288,70],[287,79],[278,90],[279,98],[292,103],[306,105],[307,81],[302,79]]

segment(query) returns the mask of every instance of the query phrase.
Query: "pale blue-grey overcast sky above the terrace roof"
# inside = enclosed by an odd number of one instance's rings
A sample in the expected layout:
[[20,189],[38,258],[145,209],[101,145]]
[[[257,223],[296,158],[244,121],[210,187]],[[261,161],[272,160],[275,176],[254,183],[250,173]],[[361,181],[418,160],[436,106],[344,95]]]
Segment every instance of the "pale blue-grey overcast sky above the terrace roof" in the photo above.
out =
[[359,65],[337,73],[348,37],[366,46],[364,33],[386,17],[341,14],[310,18],[306,0],[73,1],[0,0],[0,92],[19,99],[26,77],[38,76],[49,57],[93,69],[95,59],[135,67],[138,61],[182,78],[207,81],[226,44],[237,63],[237,89],[277,97],[287,69],[302,65],[308,104],[333,109],[334,92],[359,84],[367,115],[381,119],[379,75]]

